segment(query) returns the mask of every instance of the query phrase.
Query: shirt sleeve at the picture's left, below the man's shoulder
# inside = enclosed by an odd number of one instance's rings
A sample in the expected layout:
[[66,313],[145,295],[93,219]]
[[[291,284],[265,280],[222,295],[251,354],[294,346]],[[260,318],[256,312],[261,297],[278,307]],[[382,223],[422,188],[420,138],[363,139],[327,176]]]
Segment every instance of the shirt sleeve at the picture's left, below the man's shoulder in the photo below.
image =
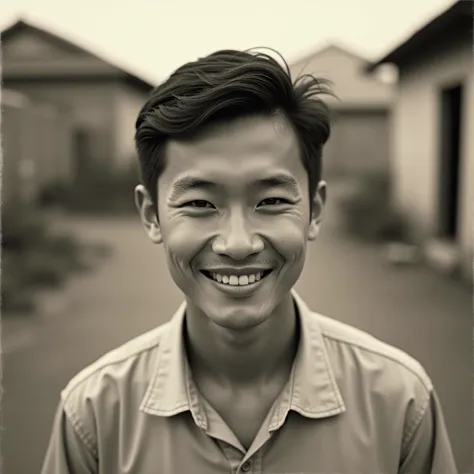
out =
[[98,462],[80,428],[59,404],[41,474],[97,474]]

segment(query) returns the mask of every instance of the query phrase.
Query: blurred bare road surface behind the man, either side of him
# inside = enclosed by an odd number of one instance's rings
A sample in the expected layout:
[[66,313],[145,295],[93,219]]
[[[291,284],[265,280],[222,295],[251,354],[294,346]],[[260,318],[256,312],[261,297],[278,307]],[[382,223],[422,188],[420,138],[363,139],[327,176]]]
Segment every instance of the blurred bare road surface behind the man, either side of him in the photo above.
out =
[[[82,236],[114,254],[64,291],[62,311],[25,327],[4,324],[2,441],[7,474],[37,474],[59,391],[118,344],[168,320],[181,294],[161,247],[138,218],[77,220]],[[311,307],[371,332],[419,359],[432,376],[463,473],[472,472],[472,304],[468,287],[423,268],[392,269],[371,247],[330,228],[312,244],[297,290]],[[12,338],[12,331],[18,337]]]

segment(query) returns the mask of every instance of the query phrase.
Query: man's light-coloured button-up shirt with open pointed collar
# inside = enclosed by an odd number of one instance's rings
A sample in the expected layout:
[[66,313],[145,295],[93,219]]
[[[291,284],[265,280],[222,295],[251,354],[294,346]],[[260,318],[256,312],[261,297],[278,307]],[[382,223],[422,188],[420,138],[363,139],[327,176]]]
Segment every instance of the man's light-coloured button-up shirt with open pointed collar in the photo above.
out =
[[186,304],[106,354],[61,392],[43,474],[456,474],[422,366],[310,311],[286,387],[248,450],[199,395]]

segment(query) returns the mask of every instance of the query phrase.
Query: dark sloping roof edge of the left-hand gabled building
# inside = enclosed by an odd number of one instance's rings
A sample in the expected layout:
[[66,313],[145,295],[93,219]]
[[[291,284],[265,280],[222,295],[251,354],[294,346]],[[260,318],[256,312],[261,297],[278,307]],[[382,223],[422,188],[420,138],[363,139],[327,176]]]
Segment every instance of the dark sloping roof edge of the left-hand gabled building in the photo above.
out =
[[133,86],[139,89],[149,91],[153,89],[154,87],[154,85],[150,84],[148,81],[145,81],[144,79],[138,77],[137,75],[132,74],[131,72],[126,71],[115,64],[112,64],[110,61],[105,60],[104,58],[98,56],[97,54],[92,53],[91,51],[75,43],[72,43],[71,41],[63,38],[62,36],[58,36],[54,33],[51,33],[50,31],[34,26],[31,23],[26,22],[21,19],[1,32],[2,43],[5,45],[8,43],[8,41],[12,40],[17,35],[24,32],[32,32],[36,36],[44,39],[50,44],[57,46],[63,51],[68,51],[72,54],[92,57],[98,61],[101,61],[107,66],[109,66],[113,70],[113,72],[116,73],[117,77],[124,78],[125,80],[127,80],[127,82],[129,82],[130,84],[132,84]]

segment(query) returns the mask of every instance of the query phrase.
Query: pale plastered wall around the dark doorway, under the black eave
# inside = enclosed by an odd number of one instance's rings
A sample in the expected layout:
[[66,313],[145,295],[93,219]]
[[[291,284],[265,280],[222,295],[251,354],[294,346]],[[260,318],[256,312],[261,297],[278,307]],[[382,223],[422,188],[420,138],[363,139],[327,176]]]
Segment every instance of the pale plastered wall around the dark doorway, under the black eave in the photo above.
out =
[[[420,236],[435,236],[438,224],[440,101],[439,91],[462,80],[465,86],[461,143],[459,239],[464,270],[472,274],[474,202],[474,81],[469,38],[423,51],[401,68],[398,98],[393,110],[395,199],[409,212]],[[471,131],[471,132],[469,132]]]

